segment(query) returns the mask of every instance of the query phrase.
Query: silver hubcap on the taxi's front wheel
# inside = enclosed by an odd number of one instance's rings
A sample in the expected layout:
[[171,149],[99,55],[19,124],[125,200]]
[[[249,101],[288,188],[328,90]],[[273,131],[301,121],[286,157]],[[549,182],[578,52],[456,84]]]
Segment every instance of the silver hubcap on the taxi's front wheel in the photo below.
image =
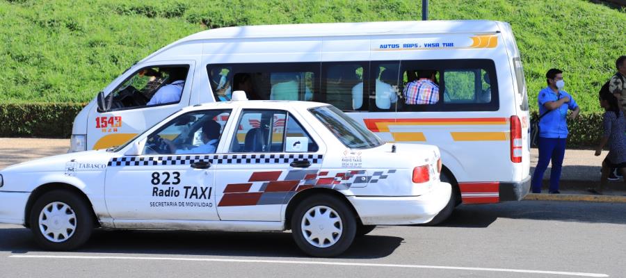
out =
[[47,240],[62,243],[76,231],[76,213],[65,203],[50,203],[39,214],[39,229]]

